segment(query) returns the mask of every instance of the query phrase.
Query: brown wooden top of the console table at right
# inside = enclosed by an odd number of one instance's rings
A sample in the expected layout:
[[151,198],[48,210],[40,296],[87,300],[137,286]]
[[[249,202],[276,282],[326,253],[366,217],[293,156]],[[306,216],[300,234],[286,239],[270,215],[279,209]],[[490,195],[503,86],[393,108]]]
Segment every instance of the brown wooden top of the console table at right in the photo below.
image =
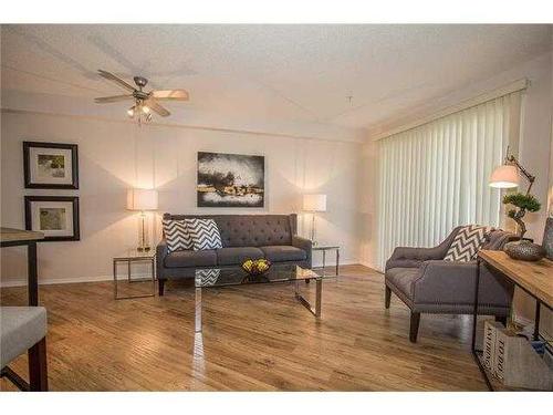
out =
[[544,304],[553,307],[553,261],[514,260],[503,251],[480,250],[478,256]]

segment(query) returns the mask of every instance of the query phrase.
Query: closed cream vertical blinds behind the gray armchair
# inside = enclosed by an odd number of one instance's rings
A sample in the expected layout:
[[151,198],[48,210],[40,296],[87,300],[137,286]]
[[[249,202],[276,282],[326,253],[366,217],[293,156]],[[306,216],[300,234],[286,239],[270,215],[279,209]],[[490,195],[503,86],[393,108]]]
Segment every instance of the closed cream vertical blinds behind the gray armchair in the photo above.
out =
[[430,247],[453,227],[501,225],[499,189],[488,186],[507,146],[518,153],[521,92],[378,142],[378,267],[395,247]]

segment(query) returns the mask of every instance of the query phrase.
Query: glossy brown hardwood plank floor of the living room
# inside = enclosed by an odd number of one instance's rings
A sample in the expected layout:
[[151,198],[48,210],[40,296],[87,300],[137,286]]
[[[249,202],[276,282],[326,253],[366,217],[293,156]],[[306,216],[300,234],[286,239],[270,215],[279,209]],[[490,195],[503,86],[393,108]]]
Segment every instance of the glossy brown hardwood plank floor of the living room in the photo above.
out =
[[[383,276],[342,268],[323,283],[320,323],[292,284],[204,293],[194,333],[194,288],[115,301],[111,282],[42,286],[52,391],[484,391],[470,354],[469,317],[422,315],[409,343],[408,309],[384,308]],[[314,297],[315,284],[302,284]],[[25,289],[2,290],[2,305]],[[27,356],[12,365],[27,373]],[[27,376],[27,375],[25,375]],[[27,378],[27,377],[25,377]],[[6,380],[2,391],[13,390]]]

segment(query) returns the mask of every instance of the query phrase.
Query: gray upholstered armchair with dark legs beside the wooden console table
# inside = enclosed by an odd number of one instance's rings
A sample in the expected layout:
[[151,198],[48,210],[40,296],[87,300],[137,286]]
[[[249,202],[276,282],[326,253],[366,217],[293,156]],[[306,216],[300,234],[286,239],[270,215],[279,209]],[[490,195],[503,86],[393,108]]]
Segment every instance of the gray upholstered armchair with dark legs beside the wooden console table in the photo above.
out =
[[[409,340],[417,341],[420,313],[471,314],[474,303],[476,261],[453,262],[444,258],[461,227],[457,227],[437,247],[394,250],[386,262],[385,304],[389,308],[394,292],[410,309]],[[500,250],[517,236],[502,230],[490,234],[482,249]],[[479,288],[479,314],[509,315],[512,284],[494,271],[482,268]]]

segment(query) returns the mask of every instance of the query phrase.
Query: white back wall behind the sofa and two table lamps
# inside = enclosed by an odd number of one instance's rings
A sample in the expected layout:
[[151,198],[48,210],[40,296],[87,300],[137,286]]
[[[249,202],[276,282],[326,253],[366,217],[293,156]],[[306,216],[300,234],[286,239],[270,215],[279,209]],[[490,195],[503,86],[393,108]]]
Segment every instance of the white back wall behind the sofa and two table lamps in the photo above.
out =
[[[6,106],[4,106],[6,107]],[[80,190],[23,188],[22,142],[79,144]],[[79,195],[81,241],[42,242],[42,282],[108,279],[112,258],[137,241],[137,215],[125,210],[126,189],[159,189],[159,210],[170,212],[296,212],[302,193],[328,195],[320,240],[342,245],[344,262],[358,260],[361,144],[240,134],[181,126],[135,124],[82,116],[3,110],[1,114],[1,224],[24,227],[24,195]],[[265,156],[264,209],[198,209],[198,151]],[[136,160],[136,162],[135,162]],[[300,230],[307,232],[300,218]],[[157,217],[157,221],[159,216]],[[159,226],[157,226],[159,231]],[[3,248],[2,283],[22,282],[25,253]]]

